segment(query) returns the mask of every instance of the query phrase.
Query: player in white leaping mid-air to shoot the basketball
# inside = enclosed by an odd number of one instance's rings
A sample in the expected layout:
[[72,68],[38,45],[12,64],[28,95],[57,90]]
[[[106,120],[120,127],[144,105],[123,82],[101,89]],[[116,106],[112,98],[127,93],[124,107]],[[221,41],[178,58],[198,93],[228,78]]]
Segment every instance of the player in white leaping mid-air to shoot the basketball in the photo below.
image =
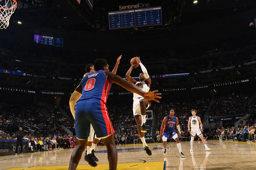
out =
[[[151,85],[151,79],[148,76],[148,71],[145,68],[145,66],[141,63],[140,57],[133,57],[131,60],[131,67],[127,71],[125,77],[127,80],[133,84],[135,84],[137,87],[139,87],[143,92],[148,92]],[[131,72],[134,68],[137,68],[140,65],[141,70],[143,71],[139,75],[139,80],[136,81],[131,77]],[[133,116],[135,118],[138,133],[140,135],[140,139],[143,143],[143,147],[146,150],[148,155],[152,155],[151,150],[148,148],[148,145],[146,144],[144,133],[147,132],[146,128],[146,109],[149,107],[148,102],[139,94],[133,93]]]

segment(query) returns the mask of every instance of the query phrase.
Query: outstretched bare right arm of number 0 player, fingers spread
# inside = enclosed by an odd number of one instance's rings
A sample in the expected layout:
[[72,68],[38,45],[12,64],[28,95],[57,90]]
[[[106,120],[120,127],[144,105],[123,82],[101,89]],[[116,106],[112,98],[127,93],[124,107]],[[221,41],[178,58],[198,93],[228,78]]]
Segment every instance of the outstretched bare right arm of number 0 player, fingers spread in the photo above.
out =
[[136,85],[130,83],[129,81],[124,80],[123,78],[113,74],[112,72],[106,71],[105,75],[107,76],[108,80],[111,81],[112,83],[116,83],[128,91],[134,92],[134,93],[139,94],[140,96],[144,97],[149,105],[151,105],[149,102],[150,100],[154,100],[159,103],[159,101],[157,99],[162,98],[162,97],[158,96],[158,95],[161,95],[161,93],[155,93],[155,92],[158,92],[158,90],[156,90],[154,92],[146,93],[146,92],[143,92],[142,90],[140,90],[140,88],[137,87]]

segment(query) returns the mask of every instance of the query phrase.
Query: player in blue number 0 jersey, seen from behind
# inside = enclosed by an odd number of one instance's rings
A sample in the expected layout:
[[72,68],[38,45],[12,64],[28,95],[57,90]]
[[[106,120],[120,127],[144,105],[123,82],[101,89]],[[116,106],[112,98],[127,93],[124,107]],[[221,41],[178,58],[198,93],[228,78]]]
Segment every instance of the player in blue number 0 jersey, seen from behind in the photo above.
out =
[[[77,147],[72,153],[69,170],[76,169],[82,153],[87,144],[87,138],[90,134],[90,124],[97,137],[102,138],[108,150],[109,169],[115,170],[117,166],[117,151],[114,140],[114,129],[108,116],[106,102],[112,83],[116,83],[130,92],[137,93],[145,98],[150,104],[150,100],[160,99],[161,93],[143,92],[139,87],[122,79],[108,70],[108,63],[105,59],[97,59],[94,62],[96,72],[86,75],[76,90],[70,97],[72,106],[76,103],[75,108],[70,107],[71,113],[75,115],[75,130],[77,136]],[[77,100],[79,99],[79,100]],[[89,158],[91,159],[91,158]]]

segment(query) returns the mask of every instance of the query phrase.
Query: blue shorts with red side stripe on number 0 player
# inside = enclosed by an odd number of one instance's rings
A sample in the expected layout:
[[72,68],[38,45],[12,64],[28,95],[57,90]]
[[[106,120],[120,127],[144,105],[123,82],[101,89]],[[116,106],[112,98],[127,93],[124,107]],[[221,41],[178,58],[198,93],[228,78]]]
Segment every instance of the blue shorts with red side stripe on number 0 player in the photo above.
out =
[[99,138],[115,132],[103,101],[95,98],[78,101],[75,106],[76,137],[87,139],[90,135],[91,124]]

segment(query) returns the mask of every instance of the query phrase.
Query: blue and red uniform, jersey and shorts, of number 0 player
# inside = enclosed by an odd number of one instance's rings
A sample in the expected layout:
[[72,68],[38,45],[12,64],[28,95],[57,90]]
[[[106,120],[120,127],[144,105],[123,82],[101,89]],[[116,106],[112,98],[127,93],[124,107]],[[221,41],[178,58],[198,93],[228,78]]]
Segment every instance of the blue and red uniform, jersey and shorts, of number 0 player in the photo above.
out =
[[75,106],[75,130],[78,139],[89,137],[91,124],[99,138],[115,132],[106,107],[111,83],[104,72],[100,70],[90,73],[81,81],[82,96]]

